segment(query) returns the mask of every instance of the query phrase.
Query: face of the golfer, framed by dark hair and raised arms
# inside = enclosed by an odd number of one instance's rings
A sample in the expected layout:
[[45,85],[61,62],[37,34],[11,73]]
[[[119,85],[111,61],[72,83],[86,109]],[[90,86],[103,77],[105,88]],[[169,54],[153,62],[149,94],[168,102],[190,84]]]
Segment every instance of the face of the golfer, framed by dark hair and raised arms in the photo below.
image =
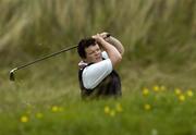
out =
[[102,61],[101,50],[97,44],[95,46],[89,46],[88,48],[85,48],[85,52],[86,52],[85,62],[97,63]]

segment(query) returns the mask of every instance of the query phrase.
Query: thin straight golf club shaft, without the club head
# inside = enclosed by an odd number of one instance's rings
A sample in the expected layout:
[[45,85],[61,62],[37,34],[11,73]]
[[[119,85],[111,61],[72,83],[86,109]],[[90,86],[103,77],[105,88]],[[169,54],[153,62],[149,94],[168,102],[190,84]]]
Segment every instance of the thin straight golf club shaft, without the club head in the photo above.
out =
[[37,63],[37,62],[39,62],[39,61],[46,60],[46,59],[48,59],[48,58],[54,57],[54,56],[60,54],[60,53],[62,53],[62,52],[64,52],[64,51],[72,50],[72,49],[74,49],[74,48],[76,48],[76,47],[77,47],[77,46],[70,47],[70,48],[65,48],[65,49],[60,50],[60,51],[58,51],[58,52],[48,54],[48,56],[46,56],[46,57],[42,57],[42,58],[40,58],[40,59],[37,59],[37,60],[32,61],[32,62],[29,62],[29,63],[26,63],[26,64],[24,64],[24,65],[17,66],[17,68],[14,69],[14,71],[20,70],[20,69],[23,69],[23,68],[26,68],[26,66],[28,66],[28,65],[32,65],[32,64]]

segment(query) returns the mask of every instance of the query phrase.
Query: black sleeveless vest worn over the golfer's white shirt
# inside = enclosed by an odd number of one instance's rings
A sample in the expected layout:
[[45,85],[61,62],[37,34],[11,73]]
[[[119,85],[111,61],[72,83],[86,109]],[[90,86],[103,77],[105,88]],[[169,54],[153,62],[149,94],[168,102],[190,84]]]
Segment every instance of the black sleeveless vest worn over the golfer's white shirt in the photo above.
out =
[[[90,64],[86,65],[89,66]],[[121,93],[121,78],[119,74],[113,70],[99,85],[93,89],[87,89],[83,85],[82,74],[84,69],[78,71],[78,81],[81,87],[81,96],[83,99],[89,98],[101,98],[101,97],[120,97]]]

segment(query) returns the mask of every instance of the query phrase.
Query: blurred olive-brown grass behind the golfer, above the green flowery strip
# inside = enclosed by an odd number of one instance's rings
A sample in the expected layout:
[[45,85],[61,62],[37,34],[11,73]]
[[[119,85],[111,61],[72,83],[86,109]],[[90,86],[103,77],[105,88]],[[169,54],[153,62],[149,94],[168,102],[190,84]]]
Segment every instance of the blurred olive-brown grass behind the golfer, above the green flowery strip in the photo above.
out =
[[123,44],[123,95],[144,86],[196,88],[196,0],[0,0],[0,112],[79,99],[76,50],[9,71],[109,32]]

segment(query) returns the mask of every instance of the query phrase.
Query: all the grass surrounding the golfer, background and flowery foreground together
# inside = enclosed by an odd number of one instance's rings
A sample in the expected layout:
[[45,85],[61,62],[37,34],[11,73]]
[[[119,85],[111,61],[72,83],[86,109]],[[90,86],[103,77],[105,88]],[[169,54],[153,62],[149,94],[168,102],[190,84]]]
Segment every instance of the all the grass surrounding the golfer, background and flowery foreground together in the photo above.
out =
[[[1,0],[0,11],[1,135],[196,134],[195,0]],[[75,50],[9,82],[11,69],[103,30],[125,47],[121,99],[81,100]]]

